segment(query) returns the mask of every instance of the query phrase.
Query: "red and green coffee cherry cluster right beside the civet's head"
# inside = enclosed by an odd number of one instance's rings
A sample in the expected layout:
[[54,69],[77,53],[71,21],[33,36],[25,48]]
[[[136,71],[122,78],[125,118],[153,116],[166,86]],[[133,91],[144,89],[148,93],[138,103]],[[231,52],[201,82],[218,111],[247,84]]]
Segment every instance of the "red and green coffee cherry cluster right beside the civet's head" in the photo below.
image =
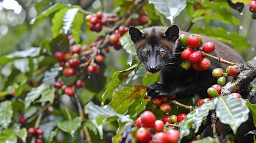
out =
[[204,53],[214,51],[214,43],[208,42],[203,44],[201,36],[196,34],[190,36],[181,34],[178,41],[183,48],[186,48],[181,52],[181,58],[184,59],[183,63],[181,63],[183,69],[189,69],[190,66],[197,71],[209,69],[211,62],[205,57]]

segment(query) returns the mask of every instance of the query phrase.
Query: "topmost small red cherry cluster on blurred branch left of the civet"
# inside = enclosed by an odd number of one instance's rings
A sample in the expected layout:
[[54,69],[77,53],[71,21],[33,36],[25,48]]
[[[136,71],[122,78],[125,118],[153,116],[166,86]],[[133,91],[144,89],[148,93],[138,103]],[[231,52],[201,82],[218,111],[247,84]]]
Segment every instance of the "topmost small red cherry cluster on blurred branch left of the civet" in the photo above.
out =
[[101,11],[98,11],[95,15],[87,15],[85,17],[86,21],[90,21],[89,29],[91,31],[100,32],[102,29],[102,26],[107,25],[107,19],[104,17],[103,13]]

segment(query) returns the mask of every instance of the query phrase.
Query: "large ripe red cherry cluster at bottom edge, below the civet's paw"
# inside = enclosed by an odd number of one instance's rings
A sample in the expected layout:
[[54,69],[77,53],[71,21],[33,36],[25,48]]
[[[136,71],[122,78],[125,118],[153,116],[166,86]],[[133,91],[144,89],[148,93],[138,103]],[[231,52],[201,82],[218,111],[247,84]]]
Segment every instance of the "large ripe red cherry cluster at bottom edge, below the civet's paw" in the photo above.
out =
[[[165,117],[166,118],[166,117]],[[137,118],[135,124],[139,128],[135,133],[137,142],[172,143],[178,142],[180,132],[176,129],[168,129],[164,132],[165,122],[156,120],[156,116],[150,111],[144,111]],[[171,118],[169,118],[171,120]],[[177,117],[175,119],[177,121]]]

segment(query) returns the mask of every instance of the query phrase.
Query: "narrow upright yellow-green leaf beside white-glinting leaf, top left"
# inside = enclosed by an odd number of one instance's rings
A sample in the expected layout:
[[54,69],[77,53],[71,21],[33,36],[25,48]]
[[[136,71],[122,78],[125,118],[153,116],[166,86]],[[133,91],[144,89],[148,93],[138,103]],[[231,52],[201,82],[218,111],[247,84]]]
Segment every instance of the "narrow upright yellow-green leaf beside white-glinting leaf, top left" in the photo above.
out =
[[73,35],[73,38],[75,39],[76,43],[80,42],[80,36],[81,36],[81,24],[84,22],[84,14],[78,13],[76,14],[75,19],[73,20],[73,26],[71,28],[71,33]]

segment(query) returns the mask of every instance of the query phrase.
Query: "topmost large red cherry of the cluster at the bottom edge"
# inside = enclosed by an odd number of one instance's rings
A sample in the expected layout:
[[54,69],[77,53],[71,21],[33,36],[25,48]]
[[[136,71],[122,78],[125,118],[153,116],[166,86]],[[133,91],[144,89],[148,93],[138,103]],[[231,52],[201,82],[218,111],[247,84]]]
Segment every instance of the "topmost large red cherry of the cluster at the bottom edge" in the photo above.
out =
[[143,127],[153,128],[156,121],[156,116],[151,111],[144,111],[140,114],[140,118],[141,123],[143,123]]

